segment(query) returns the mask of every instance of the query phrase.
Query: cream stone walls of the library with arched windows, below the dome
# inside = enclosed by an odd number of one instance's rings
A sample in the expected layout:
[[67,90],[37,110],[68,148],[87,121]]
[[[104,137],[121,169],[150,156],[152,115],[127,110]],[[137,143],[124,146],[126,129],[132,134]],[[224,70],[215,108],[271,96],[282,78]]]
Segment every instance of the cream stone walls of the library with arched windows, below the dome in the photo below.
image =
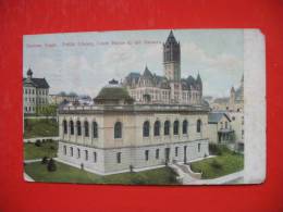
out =
[[[67,107],[59,113],[59,158],[99,174],[128,172],[131,166],[153,169],[165,162],[204,158],[209,154],[207,113],[208,108],[204,107]],[[187,124],[184,125],[184,121]],[[145,134],[146,122],[149,123],[148,134]],[[156,127],[157,122],[159,127]],[[164,135],[165,122],[169,122],[168,135]],[[177,128],[174,127],[176,122]],[[114,136],[116,123],[122,124],[119,138]]]

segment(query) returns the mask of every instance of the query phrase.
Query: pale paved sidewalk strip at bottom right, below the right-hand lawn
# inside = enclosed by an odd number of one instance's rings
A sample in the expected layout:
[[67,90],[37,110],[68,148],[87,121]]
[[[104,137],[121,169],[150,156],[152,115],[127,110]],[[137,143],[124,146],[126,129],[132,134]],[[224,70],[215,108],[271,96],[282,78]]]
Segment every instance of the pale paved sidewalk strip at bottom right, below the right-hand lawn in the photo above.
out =
[[189,185],[221,185],[229,184],[235,180],[239,180],[239,183],[244,179],[244,171],[236,172],[233,174],[229,174],[222,177],[218,177],[214,179],[198,179],[190,182]]

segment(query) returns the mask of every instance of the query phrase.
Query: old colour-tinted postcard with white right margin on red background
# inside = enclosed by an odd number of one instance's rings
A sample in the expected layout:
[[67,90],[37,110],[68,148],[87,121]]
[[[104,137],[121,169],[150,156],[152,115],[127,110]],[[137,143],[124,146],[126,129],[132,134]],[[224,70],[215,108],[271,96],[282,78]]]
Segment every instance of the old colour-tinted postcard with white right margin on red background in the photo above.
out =
[[262,183],[264,51],[257,29],[24,36],[25,179]]

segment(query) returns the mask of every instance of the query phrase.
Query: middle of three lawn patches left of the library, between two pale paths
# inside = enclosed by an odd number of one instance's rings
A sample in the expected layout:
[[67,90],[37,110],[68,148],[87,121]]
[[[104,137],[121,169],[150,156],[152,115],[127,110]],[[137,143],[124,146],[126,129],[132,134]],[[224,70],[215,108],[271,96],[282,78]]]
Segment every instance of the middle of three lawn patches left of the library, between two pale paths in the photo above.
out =
[[34,142],[24,144],[24,159],[41,159],[44,157],[57,157],[58,141],[41,142],[41,147],[36,147]]

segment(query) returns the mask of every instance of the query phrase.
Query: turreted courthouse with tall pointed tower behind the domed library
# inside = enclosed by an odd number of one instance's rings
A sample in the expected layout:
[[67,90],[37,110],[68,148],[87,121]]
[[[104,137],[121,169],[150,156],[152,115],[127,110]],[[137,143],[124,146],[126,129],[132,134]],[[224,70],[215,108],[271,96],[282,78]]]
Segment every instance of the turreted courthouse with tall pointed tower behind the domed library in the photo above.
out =
[[200,75],[181,78],[181,46],[173,32],[163,43],[164,76],[152,74],[146,66],[143,74],[130,73],[123,85],[136,103],[201,104]]

